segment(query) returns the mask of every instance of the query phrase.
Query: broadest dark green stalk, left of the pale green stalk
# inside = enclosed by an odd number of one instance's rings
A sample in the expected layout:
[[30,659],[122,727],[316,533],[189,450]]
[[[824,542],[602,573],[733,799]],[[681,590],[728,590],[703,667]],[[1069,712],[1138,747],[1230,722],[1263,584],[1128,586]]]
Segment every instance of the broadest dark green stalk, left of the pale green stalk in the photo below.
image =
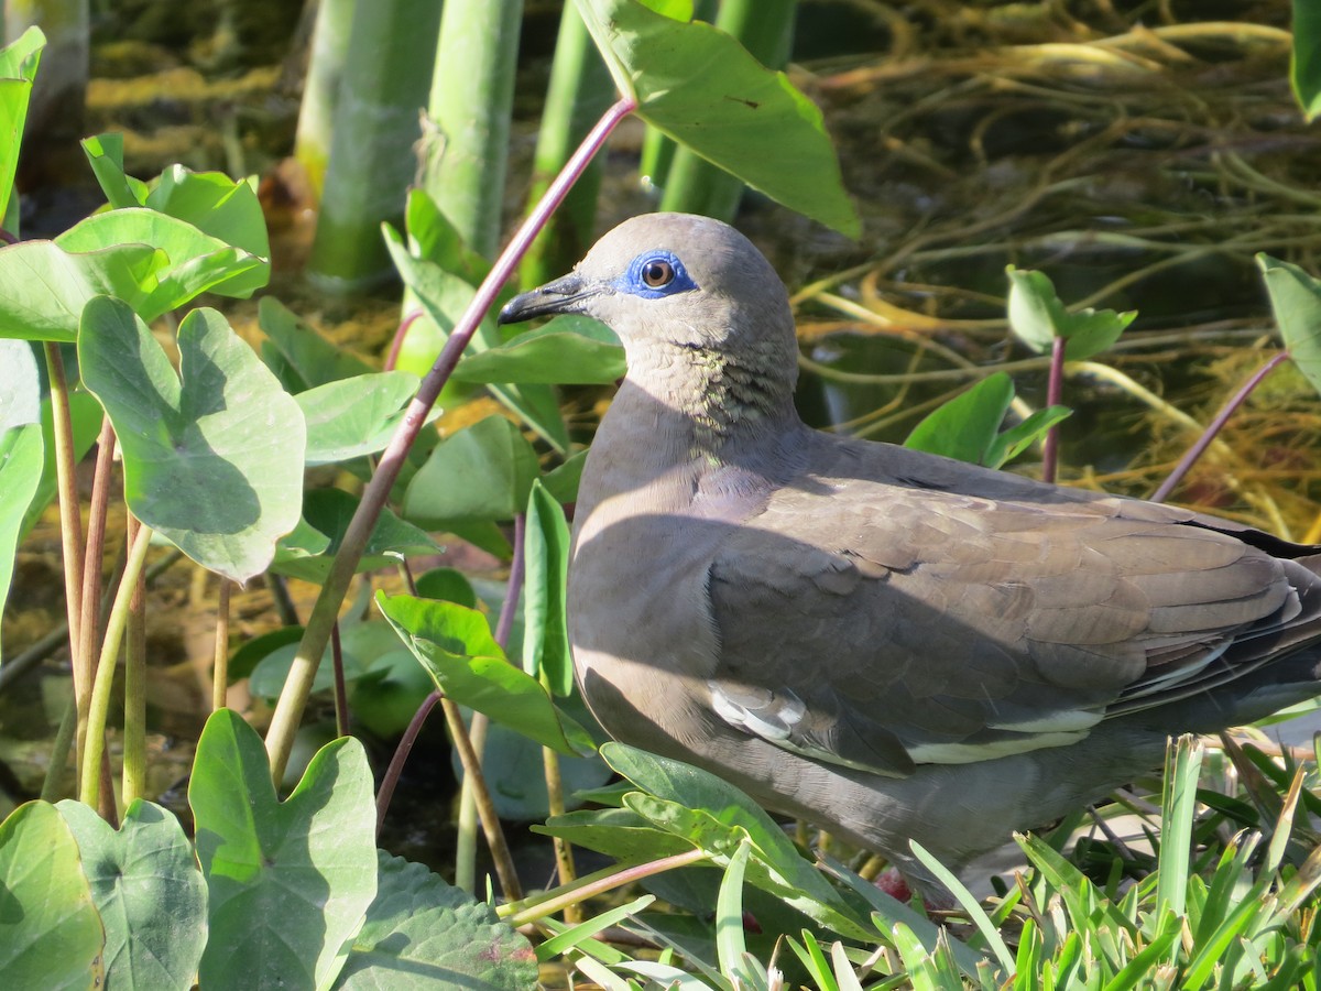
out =
[[308,276],[328,292],[355,292],[394,271],[380,223],[399,226],[416,164],[439,5],[379,0],[354,5],[339,83],[330,165]]

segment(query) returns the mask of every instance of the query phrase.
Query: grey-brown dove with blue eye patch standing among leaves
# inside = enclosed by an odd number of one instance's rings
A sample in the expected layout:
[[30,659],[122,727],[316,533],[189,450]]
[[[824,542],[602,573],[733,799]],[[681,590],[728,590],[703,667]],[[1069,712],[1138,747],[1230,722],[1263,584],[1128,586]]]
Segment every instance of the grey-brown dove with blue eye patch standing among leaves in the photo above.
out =
[[551,313],[627,354],[568,589],[618,740],[929,884],[910,838],[963,865],[1321,691],[1321,548],[806,427],[785,287],[732,227],[627,221],[501,320]]

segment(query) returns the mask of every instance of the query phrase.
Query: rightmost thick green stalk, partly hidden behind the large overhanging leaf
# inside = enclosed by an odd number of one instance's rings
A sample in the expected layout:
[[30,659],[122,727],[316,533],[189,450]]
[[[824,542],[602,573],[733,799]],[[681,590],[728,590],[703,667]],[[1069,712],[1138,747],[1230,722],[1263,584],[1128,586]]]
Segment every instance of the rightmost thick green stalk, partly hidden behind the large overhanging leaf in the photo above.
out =
[[[797,0],[724,0],[716,26],[742,42],[758,62],[782,69],[794,38]],[[664,180],[662,210],[733,221],[744,182],[688,148],[678,148]]]

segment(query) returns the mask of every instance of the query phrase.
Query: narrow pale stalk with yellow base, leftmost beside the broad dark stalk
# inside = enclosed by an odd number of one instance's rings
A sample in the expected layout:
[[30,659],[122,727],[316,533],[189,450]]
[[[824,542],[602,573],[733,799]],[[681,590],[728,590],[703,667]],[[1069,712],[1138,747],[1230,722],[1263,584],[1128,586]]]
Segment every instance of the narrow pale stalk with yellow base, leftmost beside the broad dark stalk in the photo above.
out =
[[303,81],[303,103],[299,106],[299,131],[293,139],[293,157],[303,166],[317,202],[325,189],[330,163],[330,140],[334,115],[339,106],[339,79],[349,61],[349,37],[353,28],[354,0],[321,0],[317,24],[312,32],[312,54]]

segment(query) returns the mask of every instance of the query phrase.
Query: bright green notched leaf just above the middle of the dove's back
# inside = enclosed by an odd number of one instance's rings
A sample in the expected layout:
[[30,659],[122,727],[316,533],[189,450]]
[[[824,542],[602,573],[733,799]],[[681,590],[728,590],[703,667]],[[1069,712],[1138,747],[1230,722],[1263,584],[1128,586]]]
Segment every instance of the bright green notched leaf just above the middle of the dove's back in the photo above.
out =
[[972,388],[929,414],[913,428],[904,447],[999,468],[1022,453],[1070,412],[1062,406],[1038,410],[1001,433],[1000,424],[1012,402],[1013,379],[1003,371],[987,375]]

